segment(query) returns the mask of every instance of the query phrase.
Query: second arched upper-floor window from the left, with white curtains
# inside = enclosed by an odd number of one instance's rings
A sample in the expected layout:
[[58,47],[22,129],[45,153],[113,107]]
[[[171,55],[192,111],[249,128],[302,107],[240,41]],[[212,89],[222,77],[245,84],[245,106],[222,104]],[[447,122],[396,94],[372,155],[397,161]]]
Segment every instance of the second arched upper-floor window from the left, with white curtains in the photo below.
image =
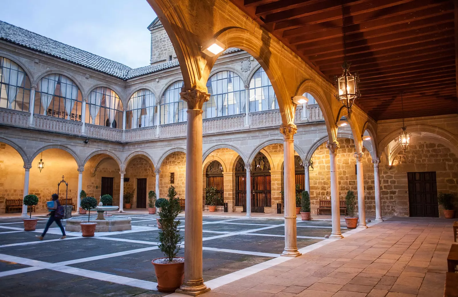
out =
[[44,76],[35,92],[34,112],[81,121],[82,97],[75,82],[60,74]]

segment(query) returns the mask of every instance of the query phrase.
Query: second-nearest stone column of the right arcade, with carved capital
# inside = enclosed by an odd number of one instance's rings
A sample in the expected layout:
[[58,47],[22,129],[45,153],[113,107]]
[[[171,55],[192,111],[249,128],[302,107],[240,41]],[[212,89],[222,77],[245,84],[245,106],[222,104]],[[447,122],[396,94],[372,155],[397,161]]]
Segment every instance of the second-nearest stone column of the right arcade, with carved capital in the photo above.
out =
[[283,134],[284,155],[284,218],[285,218],[285,248],[282,256],[297,257],[301,254],[297,250],[296,230],[296,185],[294,181],[294,140],[297,132],[295,124],[280,126]]

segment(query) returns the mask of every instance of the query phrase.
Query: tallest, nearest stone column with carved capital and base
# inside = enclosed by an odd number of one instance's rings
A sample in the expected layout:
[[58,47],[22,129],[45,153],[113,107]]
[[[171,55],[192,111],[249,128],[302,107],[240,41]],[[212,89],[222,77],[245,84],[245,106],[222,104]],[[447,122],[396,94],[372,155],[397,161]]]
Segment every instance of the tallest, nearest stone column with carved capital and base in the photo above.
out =
[[188,123],[186,126],[185,276],[177,292],[196,296],[210,291],[202,278],[202,105],[208,101],[210,94],[192,89],[180,92],[180,96],[188,104],[186,112]]

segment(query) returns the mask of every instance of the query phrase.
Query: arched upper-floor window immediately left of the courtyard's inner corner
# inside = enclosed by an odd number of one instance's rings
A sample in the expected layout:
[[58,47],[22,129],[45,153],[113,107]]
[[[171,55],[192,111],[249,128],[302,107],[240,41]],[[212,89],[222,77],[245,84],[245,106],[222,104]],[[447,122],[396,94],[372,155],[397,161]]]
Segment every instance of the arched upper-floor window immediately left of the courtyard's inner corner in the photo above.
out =
[[99,86],[89,93],[86,123],[122,129],[122,103],[113,90]]

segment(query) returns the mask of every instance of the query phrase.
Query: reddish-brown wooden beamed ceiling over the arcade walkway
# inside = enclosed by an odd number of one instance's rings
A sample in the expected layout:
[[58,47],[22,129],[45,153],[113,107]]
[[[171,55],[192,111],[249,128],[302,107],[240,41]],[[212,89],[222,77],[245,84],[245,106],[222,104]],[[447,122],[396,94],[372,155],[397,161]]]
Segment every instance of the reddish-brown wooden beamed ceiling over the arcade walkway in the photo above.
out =
[[[458,113],[457,0],[231,0],[327,80],[344,32],[356,104],[376,120]],[[344,16],[344,17],[342,17]]]

